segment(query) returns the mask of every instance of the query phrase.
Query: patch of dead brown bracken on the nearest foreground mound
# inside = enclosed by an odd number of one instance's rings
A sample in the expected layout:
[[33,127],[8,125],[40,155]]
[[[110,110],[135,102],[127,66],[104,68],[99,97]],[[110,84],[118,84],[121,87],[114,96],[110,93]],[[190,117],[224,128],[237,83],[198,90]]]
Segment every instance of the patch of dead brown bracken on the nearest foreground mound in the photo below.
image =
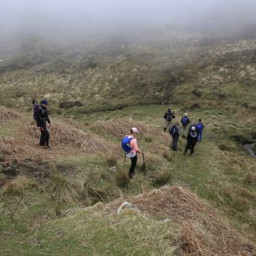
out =
[[255,248],[226,224],[191,191],[177,186],[162,188],[142,196],[116,200],[117,209],[124,201],[157,219],[169,218],[181,226],[180,254],[193,256],[252,256]]

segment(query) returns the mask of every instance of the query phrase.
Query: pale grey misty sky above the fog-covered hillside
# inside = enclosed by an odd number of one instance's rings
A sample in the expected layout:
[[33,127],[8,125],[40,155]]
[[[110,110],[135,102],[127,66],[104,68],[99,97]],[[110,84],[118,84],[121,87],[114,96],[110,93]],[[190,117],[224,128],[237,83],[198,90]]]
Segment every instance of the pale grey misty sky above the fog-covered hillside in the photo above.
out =
[[79,33],[158,24],[256,24],[256,0],[0,0],[1,38]]

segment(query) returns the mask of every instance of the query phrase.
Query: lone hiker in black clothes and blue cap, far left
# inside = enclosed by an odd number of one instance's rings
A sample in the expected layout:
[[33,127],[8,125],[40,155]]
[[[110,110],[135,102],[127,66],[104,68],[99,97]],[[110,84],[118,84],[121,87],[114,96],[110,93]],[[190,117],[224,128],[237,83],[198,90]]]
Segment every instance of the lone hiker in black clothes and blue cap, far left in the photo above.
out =
[[47,105],[48,102],[46,99],[42,99],[41,105],[36,111],[36,125],[39,127],[39,130],[41,131],[41,137],[39,145],[44,146],[45,148],[50,148],[49,145],[49,132],[47,131],[47,125],[46,122],[50,125],[50,119],[47,114]]

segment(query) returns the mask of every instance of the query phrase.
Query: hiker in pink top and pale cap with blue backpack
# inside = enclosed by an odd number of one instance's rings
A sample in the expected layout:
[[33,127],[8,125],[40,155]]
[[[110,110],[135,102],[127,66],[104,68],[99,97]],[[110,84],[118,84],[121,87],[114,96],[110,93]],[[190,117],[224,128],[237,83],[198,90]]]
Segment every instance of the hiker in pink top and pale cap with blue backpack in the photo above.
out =
[[126,135],[125,139],[122,140],[122,148],[125,150],[126,157],[131,159],[131,167],[128,172],[128,176],[130,179],[134,176],[134,171],[137,165],[137,154],[141,153],[144,154],[137,145],[137,134],[139,131],[137,128],[131,128],[131,134]]

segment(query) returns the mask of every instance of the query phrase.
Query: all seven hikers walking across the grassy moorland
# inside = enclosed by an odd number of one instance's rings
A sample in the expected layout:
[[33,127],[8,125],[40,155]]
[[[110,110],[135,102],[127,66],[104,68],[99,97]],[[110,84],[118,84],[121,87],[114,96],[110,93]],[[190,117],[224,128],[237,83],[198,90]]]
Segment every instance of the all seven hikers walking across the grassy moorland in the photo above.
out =
[[[41,132],[39,145],[44,148],[50,148],[50,145],[49,145],[50,134],[49,134],[49,131],[47,130],[47,126],[50,126],[50,119],[47,113],[48,102],[46,99],[42,99],[40,104],[37,104],[36,100],[33,99],[32,104],[33,104],[33,122],[31,122],[31,125],[36,125],[39,128],[39,131]],[[201,119],[198,119],[198,122],[192,122],[192,125],[188,126],[190,124],[190,119],[188,118],[188,114],[185,113],[180,121],[182,125],[182,131],[181,131],[180,125],[178,122],[174,122],[174,125],[172,124],[173,119],[175,119],[175,115],[174,115],[174,112],[171,111],[171,108],[168,108],[168,111],[164,114],[163,118],[165,119],[165,127],[163,131],[165,132],[168,129],[172,137],[172,143],[171,143],[172,150],[174,151],[178,150],[178,142],[180,140],[180,134],[182,133],[182,137],[187,139],[186,148],[183,154],[186,154],[188,149],[190,150],[190,155],[193,154],[194,146],[197,144],[197,142],[200,142],[202,140],[204,125]],[[186,131],[188,131],[187,135],[186,135]],[[137,154],[142,154],[143,165],[145,165],[144,153],[142,150],[140,150],[137,143],[136,137],[138,134],[139,134],[138,129],[133,127],[131,128],[131,133],[126,135],[125,138],[122,140],[122,149],[125,151],[125,159],[129,158],[131,160],[131,166],[128,171],[128,177],[130,177],[130,179],[134,177],[134,174],[135,174],[135,168],[137,166]],[[125,166],[125,162],[124,162],[124,166]]]

